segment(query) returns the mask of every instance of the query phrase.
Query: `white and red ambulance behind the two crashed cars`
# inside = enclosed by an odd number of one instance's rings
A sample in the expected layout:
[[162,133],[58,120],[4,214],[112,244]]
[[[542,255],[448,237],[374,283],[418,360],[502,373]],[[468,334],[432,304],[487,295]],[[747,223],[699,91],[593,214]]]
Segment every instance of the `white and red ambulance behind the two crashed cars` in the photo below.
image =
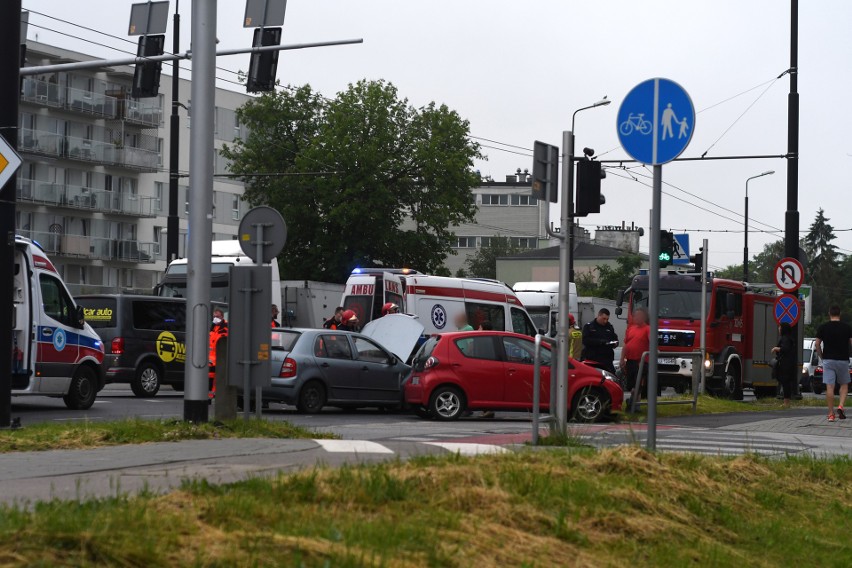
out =
[[487,322],[498,331],[536,334],[521,301],[497,280],[431,276],[407,268],[356,269],[346,281],[341,306],[353,310],[363,326],[381,317],[387,302],[417,316],[427,335],[456,331],[462,313],[474,329]]

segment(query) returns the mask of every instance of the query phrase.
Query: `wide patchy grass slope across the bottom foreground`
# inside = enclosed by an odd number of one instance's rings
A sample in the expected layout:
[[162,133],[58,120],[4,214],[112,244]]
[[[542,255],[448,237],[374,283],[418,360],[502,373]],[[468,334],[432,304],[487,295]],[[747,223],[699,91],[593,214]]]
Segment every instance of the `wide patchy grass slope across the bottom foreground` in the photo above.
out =
[[318,469],[0,509],[10,566],[820,566],[852,461],[637,447]]

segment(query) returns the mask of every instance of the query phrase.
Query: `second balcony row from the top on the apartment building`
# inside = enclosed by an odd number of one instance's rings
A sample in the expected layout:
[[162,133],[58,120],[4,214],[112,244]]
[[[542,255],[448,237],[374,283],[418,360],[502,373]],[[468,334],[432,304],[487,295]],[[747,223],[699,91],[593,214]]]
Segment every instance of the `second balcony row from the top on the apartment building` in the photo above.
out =
[[66,158],[141,171],[156,171],[160,163],[160,155],[156,150],[29,128],[19,129],[18,149],[25,154]]

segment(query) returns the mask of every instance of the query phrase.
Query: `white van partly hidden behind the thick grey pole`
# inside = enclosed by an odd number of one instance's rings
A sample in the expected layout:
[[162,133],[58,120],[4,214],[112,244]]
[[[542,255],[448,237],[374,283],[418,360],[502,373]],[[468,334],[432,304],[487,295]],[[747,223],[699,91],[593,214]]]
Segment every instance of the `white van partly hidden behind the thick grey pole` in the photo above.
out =
[[[213,241],[210,259],[210,300],[229,304],[231,299],[231,267],[254,264],[240,248],[237,240]],[[163,280],[154,289],[157,296],[186,298],[187,259],[177,258],[169,263]],[[272,263],[272,303],[281,307],[281,276],[278,262]],[[271,316],[270,316],[271,317]]]

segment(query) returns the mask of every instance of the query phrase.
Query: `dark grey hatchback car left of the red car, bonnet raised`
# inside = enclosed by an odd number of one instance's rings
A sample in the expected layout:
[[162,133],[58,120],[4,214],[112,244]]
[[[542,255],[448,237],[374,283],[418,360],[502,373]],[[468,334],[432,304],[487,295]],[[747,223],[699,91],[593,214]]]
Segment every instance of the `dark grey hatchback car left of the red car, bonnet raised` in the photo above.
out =
[[373,339],[327,329],[272,330],[272,386],[264,402],[295,405],[397,408],[411,368]]

